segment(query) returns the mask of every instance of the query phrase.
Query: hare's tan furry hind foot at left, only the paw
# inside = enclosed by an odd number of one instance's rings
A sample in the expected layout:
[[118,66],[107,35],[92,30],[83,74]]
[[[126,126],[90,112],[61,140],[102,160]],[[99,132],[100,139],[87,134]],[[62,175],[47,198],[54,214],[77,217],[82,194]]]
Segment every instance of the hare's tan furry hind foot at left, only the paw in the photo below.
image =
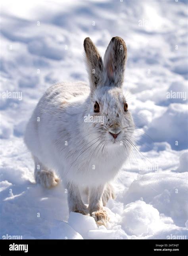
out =
[[59,183],[58,176],[53,171],[41,170],[35,174],[36,183],[40,183],[42,187],[50,189]]

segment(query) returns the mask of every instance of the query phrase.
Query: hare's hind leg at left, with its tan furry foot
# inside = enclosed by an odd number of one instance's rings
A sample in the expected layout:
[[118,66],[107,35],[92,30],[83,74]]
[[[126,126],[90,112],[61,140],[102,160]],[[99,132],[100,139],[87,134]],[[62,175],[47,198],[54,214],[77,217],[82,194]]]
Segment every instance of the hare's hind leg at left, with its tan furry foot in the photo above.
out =
[[36,156],[33,156],[35,161],[35,181],[36,183],[40,183],[42,187],[50,189],[51,187],[55,187],[59,183],[59,178],[54,173],[54,171],[46,168]]

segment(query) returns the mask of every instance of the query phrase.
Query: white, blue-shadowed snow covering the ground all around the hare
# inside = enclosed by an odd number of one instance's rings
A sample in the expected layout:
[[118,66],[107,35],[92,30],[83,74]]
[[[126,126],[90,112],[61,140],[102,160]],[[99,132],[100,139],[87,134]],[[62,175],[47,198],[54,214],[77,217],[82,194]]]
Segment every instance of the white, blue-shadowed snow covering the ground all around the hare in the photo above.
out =
[[[186,238],[188,228],[186,1],[2,1],[0,237]],[[117,18],[118,17],[118,18]],[[113,36],[128,49],[125,96],[137,125],[134,150],[114,181],[107,227],[71,213],[62,184],[36,185],[25,125],[53,83],[88,81],[83,40],[102,56]],[[21,92],[4,98],[3,92]],[[169,92],[182,97],[168,98]],[[184,96],[184,97],[183,97]],[[131,132],[131,131],[130,131]]]

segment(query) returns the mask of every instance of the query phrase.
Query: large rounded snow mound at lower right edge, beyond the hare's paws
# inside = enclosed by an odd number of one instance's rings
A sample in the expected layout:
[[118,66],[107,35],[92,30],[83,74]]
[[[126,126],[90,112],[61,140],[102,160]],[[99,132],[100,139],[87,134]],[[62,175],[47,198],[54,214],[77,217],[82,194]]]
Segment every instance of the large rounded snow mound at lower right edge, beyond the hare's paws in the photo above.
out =
[[188,208],[187,173],[148,173],[133,181],[124,194],[124,203],[143,198],[176,225],[185,226]]

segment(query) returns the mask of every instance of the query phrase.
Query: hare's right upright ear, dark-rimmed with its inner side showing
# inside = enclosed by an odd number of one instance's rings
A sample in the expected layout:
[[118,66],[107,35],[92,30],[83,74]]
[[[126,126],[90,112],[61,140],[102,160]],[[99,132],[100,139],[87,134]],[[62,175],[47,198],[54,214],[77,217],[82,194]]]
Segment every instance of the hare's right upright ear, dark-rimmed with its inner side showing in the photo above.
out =
[[123,85],[127,46],[121,37],[113,37],[104,55],[104,66],[112,85]]

